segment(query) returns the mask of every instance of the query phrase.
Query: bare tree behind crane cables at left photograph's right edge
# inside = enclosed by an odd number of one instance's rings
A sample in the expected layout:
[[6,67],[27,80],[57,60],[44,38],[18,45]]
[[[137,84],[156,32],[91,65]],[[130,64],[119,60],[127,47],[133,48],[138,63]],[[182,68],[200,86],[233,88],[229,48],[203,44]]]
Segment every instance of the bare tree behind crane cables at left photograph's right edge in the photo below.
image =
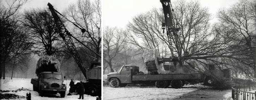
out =
[[[86,30],[85,34],[81,33],[77,27],[72,33],[78,37],[83,43],[91,45],[96,53],[101,52],[101,1],[95,0],[78,0],[76,4],[70,4],[65,10],[68,19],[78,24],[80,28]],[[88,53],[91,57],[95,57],[95,61],[99,61],[96,54]]]

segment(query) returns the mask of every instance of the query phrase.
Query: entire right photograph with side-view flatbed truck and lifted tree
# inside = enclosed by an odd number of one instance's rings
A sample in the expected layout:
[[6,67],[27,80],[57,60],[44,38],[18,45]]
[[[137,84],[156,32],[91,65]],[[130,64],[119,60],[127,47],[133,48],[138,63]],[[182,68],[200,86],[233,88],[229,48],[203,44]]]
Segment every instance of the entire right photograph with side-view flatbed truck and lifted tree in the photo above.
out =
[[254,0],[102,2],[103,100],[255,98]]

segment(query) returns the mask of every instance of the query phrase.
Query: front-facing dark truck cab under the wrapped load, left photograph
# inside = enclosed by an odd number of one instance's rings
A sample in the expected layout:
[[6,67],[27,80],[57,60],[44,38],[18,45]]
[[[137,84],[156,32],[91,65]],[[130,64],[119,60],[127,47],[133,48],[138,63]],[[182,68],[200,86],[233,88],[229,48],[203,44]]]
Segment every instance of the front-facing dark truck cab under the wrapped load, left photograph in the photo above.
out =
[[41,72],[38,77],[38,79],[31,79],[31,84],[33,84],[33,90],[39,92],[40,96],[44,96],[45,93],[60,93],[62,98],[65,97],[66,84],[63,84],[62,73],[46,71]]

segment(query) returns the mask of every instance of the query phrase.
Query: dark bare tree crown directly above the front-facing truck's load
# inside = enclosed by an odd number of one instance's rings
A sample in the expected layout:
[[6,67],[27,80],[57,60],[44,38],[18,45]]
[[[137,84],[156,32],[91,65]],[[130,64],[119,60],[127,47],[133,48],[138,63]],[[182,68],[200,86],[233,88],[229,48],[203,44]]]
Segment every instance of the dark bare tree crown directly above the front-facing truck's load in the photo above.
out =
[[[49,10],[33,9],[25,11],[23,25],[33,40],[33,51],[42,55],[53,55],[61,52],[64,46],[60,42],[60,36],[56,33],[54,19]],[[58,45],[57,45],[58,44]]]

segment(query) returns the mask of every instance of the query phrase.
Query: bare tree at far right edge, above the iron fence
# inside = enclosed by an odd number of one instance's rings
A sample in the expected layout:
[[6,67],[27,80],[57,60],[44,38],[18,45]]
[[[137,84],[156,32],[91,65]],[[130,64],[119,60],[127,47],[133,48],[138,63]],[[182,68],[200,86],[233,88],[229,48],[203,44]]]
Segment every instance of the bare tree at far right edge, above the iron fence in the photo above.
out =
[[[240,0],[229,9],[221,9],[217,13],[220,23],[214,32],[221,41],[225,41],[227,52],[235,57],[232,61],[234,69],[239,69],[249,77],[256,77],[256,2]],[[254,70],[254,72],[252,71]]]

